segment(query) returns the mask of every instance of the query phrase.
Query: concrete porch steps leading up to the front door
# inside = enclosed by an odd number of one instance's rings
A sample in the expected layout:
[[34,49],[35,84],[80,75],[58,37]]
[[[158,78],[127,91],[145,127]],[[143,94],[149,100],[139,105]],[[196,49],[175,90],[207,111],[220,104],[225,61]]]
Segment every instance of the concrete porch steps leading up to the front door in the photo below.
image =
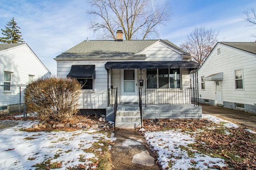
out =
[[136,108],[122,109],[118,108],[116,111],[115,126],[123,129],[136,129],[141,127],[140,111],[136,111]]

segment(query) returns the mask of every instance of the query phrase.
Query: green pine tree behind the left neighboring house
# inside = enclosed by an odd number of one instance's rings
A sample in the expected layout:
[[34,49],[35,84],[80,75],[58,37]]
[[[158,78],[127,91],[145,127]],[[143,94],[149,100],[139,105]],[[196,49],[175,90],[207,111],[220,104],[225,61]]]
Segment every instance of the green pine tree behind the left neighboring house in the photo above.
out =
[[18,30],[20,27],[17,26],[17,23],[14,21],[14,18],[12,20],[8,21],[6,23],[7,26],[5,26],[5,29],[2,30],[2,35],[4,37],[0,37],[1,43],[24,43],[25,41],[22,41],[23,38],[21,38],[21,32]]

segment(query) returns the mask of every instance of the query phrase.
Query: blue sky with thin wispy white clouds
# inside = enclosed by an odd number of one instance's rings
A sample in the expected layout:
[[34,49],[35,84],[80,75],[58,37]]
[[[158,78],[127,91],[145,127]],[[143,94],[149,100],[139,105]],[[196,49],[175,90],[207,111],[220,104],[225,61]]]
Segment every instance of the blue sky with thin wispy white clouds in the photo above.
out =
[[[152,4],[164,0],[152,0]],[[180,45],[194,27],[219,31],[219,41],[254,42],[256,26],[248,26],[243,11],[256,8],[255,0],[168,0],[172,21],[158,27],[159,39]],[[13,17],[23,40],[52,74],[54,58],[87,39],[97,39],[88,29],[87,0],[0,0],[0,29]],[[154,6],[152,5],[152,8]],[[2,36],[2,35],[0,35]]]

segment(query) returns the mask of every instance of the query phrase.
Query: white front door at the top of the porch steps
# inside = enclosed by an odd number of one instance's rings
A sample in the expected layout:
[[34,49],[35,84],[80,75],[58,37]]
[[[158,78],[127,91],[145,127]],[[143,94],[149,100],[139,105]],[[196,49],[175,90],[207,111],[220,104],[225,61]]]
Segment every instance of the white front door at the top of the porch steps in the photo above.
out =
[[137,70],[122,69],[121,102],[138,102]]

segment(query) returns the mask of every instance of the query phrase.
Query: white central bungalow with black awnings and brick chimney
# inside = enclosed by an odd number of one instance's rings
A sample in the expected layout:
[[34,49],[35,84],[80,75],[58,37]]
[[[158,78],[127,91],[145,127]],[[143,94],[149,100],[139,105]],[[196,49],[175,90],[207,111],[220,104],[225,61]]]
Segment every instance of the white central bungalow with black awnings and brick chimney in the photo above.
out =
[[54,60],[57,76],[84,85],[81,113],[101,111],[116,127],[136,128],[142,117],[202,117],[191,102],[189,73],[199,67],[191,57],[168,40],[125,41],[119,30],[116,41],[83,41]]

